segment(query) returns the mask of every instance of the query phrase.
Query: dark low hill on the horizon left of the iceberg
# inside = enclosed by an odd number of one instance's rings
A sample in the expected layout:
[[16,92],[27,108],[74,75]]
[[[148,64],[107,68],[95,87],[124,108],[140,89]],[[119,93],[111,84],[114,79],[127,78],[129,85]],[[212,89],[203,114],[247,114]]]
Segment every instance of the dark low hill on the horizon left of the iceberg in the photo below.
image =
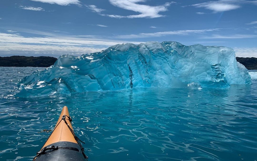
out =
[[49,67],[56,62],[57,58],[50,56],[0,56],[2,67]]

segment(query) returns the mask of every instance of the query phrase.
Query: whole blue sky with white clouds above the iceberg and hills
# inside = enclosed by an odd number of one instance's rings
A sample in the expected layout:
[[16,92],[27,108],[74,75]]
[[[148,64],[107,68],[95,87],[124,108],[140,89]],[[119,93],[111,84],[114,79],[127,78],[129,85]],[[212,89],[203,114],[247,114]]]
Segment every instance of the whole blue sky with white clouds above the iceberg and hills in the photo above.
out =
[[0,0],[0,56],[80,56],[176,41],[257,57],[257,1]]

